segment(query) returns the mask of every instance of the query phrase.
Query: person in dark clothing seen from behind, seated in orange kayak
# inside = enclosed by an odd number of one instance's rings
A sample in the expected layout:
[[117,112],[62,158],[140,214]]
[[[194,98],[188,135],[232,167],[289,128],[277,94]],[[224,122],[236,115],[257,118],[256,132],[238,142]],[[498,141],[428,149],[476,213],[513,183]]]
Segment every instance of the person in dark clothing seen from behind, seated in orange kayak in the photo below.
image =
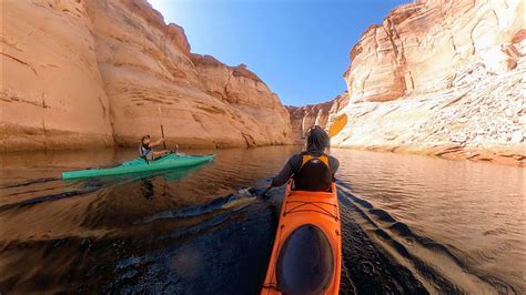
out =
[[323,192],[331,190],[340,162],[325,154],[330,138],[325,130],[314,125],[307,132],[306,151],[293,155],[283,170],[272,179],[272,186],[281,186],[291,177],[295,191]]

